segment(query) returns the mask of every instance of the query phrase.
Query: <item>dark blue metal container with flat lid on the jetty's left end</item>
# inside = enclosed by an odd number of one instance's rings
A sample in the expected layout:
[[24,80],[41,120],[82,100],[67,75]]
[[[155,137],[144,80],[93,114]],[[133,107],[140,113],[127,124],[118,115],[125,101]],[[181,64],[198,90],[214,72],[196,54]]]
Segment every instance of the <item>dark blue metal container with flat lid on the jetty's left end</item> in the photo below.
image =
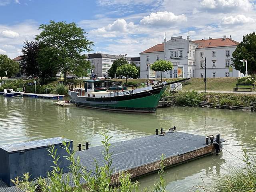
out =
[[70,142],[69,148],[72,151],[73,141],[61,137],[0,146],[0,179],[8,186],[14,186],[11,179],[26,172],[30,173],[30,180],[39,176],[46,177],[54,165],[47,151],[50,145],[57,149],[60,156],[58,162],[60,168],[63,168],[63,173],[69,172],[69,162],[63,157],[67,155],[66,150],[62,148],[63,141]]

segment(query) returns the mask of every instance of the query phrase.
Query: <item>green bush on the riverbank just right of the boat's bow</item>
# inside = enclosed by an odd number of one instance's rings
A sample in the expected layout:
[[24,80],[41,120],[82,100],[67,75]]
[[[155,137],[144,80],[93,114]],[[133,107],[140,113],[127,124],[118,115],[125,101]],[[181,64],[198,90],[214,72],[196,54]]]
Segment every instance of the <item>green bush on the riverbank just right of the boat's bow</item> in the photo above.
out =
[[175,98],[176,104],[185,106],[198,106],[201,100],[201,95],[195,90],[185,92],[180,91]]

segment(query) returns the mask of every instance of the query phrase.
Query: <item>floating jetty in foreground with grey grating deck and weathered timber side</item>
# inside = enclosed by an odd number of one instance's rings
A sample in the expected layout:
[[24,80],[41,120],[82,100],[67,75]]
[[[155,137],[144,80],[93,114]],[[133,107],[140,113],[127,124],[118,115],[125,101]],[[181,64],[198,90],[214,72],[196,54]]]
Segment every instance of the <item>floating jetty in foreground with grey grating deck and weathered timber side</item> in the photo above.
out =
[[[208,139],[205,136],[188,133],[166,132],[164,136],[151,135],[113,143],[110,147],[110,152],[113,152],[112,168],[115,171],[112,175],[112,182],[115,182],[118,174],[123,171],[128,172],[131,178],[156,172],[160,168],[162,154],[166,157],[166,168],[206,155],[218,154],[222,150],[220,146],[224,140],[220,140],[220,135],[217,135],[216,140]],[[102,151],[104,151],[103,146],[95,146],[76,152],[76,156],[80,157],[80,163],[87,170],[91,170],[94,175],[96,174],[94,159],[97,160],[99,166],[104,166]],[[81,182],[85,181],[81,180]],[[11,192],[14,188],[15,186],[8,187],[0,180],[0,192]]]

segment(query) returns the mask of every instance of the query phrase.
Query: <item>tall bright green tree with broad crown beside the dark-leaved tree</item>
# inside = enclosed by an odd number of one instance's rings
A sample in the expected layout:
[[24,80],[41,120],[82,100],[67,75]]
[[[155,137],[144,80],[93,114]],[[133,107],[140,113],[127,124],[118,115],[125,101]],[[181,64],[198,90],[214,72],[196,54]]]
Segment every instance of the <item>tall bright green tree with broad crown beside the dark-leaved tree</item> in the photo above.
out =
[[[87,39],[87,33],[74,22],[51,20],[50,24],[42,24],[38,29],[42,32],[36,36],[36,40],[50,49],[54,63],[58,64],[58,69],[64,73],[66,84],[67,72],[78,70],[78,66],[84,65],[81,53],[90,52],[93,42]],[[40,59],[44,60],[44,56]],[[49,57],[45,55],[45,59],[48,60]]]

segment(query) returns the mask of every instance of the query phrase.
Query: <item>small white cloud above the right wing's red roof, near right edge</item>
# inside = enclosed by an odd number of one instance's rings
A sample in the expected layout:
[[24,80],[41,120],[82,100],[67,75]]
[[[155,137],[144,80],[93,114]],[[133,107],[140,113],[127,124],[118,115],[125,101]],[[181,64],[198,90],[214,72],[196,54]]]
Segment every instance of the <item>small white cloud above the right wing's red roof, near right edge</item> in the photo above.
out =
[[237,16],[228,16],[224,17],[221,20],[221,24],[223,25],[234,25],[234,24],[246,24],[246,23],[254,23],[254,19],[250,17],[246,17],[244,15]]

